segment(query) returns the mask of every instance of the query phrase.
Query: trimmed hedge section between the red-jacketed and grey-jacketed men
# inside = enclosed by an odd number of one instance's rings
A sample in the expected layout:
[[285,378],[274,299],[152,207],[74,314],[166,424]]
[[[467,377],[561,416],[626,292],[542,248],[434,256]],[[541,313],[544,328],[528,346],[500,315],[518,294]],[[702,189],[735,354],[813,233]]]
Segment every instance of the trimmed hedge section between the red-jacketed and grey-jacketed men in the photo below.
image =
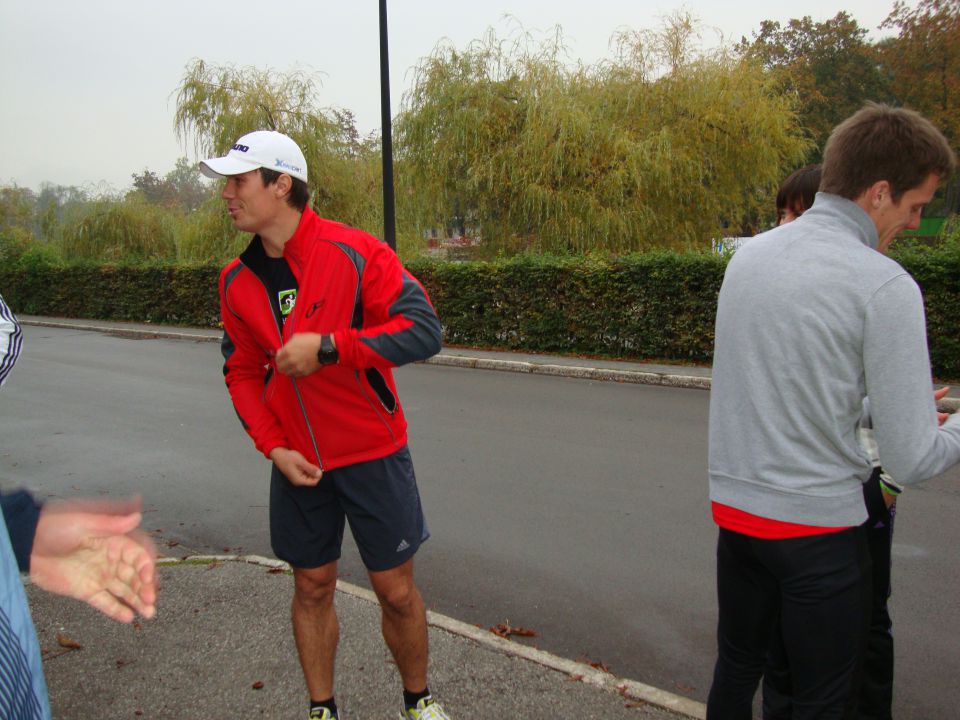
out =
[[726,261],[649,252],[409,265],[457,345],[708,362]]

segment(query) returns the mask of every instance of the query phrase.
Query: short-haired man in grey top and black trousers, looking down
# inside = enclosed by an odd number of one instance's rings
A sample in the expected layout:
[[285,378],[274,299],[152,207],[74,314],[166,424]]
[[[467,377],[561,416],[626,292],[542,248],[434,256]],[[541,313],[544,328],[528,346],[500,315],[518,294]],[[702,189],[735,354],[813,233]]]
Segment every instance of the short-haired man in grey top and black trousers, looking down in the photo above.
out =
[[730,261],[710,402],[720,527],[712,720],[751,717],[778,631],[794,718],[856,717],[870,614],[859,526],[863,484],[878,482],[857,437],[864,398],[880,461],[899,483],[960,462],[960,418],[940,426],[932,399],[920,290],[884,255],[955,168],[927,120],[868,105],[827,141],[813,207]]

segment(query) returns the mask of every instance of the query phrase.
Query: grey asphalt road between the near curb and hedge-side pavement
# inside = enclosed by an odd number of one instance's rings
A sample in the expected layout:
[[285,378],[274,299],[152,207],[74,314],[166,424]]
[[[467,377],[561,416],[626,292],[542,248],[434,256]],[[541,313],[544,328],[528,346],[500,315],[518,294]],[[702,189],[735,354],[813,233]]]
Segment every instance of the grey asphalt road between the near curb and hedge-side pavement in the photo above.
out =
[[[268,465],[210,343],[26,327],[0,391],[0,484],[142,493],[167,554],[269,555]],[[714,659],[709,393],[413,366],[398,373],[433,538],[428,604],[617,675],[703,700]],[[895,714],[960,705],[960,474],[897,518]],[[352,547],[342,575],[365,584]]]

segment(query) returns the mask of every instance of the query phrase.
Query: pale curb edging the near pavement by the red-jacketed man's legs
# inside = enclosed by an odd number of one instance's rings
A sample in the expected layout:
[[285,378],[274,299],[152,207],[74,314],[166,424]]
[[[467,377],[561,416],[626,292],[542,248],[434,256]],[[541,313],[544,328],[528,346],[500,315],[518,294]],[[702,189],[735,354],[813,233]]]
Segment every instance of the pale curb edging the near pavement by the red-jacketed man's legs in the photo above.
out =
[[[169,567],[218,562],[242,562],[275,570],[290,571],[290,566],[284,561],[266,558],[260,555],[188,555],[183,558],[157,558],[158,565]],[[344,582],[343,580],[337,580],[337,591],[367,602],[377,602],[377,597],[371,590]],[[666,690],[661,690],[651,685],[637,682],[636,680],[619,678],[610,673],[597,670],[585,663],[568,660],[544,650],[539,650],[538,648],[512,642],[511,640],[498,637],[490,631],[484,630],[476,625],[461,622],[447,615],[428,610],[427,624],[452,635],[471,640],[495,652],[522,660],[528,660],[543,667],[550,668],[551,670],[567,675],[571,680],[579,680],[580,682],[593,685],[602,690],[615,692],[628,700],[655,705],[683,717],[695,718],[696,720],[704,720],[706,718],[707,709],[703,703],[681,697],[680,695],[674,695]]]

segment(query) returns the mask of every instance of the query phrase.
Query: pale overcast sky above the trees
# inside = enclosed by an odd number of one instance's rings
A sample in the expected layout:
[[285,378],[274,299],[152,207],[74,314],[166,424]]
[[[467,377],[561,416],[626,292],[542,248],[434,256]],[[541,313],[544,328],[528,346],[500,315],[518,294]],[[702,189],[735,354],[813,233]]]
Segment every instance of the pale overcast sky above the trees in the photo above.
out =
[[[913,5],[915,3],[910,2]],[[392,0],[393,112],[408,70],[447,38],[457,47],[505,15],[531,31],[559,25],[574,58],[609,57],[612,33],[655,28],[686,8],[704,44],[750,37],[765,19],[849,12],[880,37],[893,0]],[[317,73],[326,106],[352,110],[362,132],[380,123],[378,3],[374,0],[2,0],[0,2],[0,184],[41,182],[121,190],[130,175],[160,175],[178,157],[196,160],[173,129],[175,91],[194,58]],[[711,30],[715,29],[715,30]],[[543,37],[543,35],[537,35]]]

